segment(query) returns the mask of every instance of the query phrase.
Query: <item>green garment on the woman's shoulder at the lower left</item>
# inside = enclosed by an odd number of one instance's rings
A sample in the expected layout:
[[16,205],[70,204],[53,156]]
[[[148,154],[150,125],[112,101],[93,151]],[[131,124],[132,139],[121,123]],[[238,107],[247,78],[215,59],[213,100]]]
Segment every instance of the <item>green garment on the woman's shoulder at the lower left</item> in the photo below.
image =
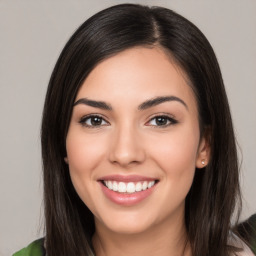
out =
[[44,256],[44,239],[38,239],[27,247],[13,254],[13,256]]

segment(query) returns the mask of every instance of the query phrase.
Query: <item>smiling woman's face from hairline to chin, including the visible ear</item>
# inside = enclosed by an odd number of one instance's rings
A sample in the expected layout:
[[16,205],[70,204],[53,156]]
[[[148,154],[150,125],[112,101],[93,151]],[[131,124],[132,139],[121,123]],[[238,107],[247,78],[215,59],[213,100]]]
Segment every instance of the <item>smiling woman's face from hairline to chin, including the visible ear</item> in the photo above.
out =
[[185,75],[159,48],[98,64],[81,86],[66,139],[73,185],[96,229],[138,233],[184,222],[207,147]]

